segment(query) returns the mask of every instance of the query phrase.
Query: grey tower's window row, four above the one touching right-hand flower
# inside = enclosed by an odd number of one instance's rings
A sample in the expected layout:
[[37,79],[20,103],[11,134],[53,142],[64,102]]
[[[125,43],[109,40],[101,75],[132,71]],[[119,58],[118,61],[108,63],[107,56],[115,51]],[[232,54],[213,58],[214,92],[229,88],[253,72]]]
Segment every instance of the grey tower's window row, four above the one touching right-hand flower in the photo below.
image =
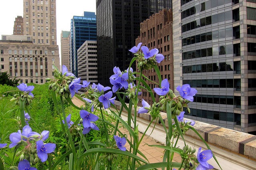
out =
[[216,24],[218,22],[224,22],[228,20],[239,20],[239,9],[235,9],[232,11],[222,12],[219,14],[215,14],[212,16],[208,16],[206,18],[201,18],[192,22],[189,22],[187,24],[183,24],[181,26],[181,32],[186,32],[189,30],[194,30],[196,28],[200,28],[203,26],[208,26],[210,24]]

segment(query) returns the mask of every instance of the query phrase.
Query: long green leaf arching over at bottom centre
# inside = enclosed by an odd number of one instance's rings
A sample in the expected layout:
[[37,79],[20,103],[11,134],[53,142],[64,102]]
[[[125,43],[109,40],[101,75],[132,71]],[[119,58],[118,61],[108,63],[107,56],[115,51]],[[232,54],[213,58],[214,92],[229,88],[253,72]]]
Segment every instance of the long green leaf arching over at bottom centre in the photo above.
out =
[[85,156],[88,156],[89,154],[96,154],[96,153],[113,153],[113,154],[121,154],[121,155],[125,155],[125,156],[129,156],[131,158],[135,158],[137,161],[141,161],[145,164],[147,164],[147,161],[143,160],[142,158],[140,158],[139,156],[132,154],[130,152],[126,152],[123,150],[118,150],[118,149],[113,149],[113,148],[92,148],[87,150],[84,154],[82,154],[80,156],[80,158],[78,159],[78,163],[77,163],[77,169],[80,169],[80,162],[83,160],[83,158],[85,158]]

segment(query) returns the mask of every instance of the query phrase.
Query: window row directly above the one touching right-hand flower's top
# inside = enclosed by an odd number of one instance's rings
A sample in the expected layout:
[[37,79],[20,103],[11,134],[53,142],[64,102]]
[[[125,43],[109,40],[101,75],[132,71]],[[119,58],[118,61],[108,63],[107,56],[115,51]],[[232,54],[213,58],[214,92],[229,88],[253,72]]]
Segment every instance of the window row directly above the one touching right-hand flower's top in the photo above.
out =
[[205,72],[216,72],[216,71],[233,71],[233,70],[234,70],[233,62],[188,65],[188,66],[182,67],[183,74],[205,73]]

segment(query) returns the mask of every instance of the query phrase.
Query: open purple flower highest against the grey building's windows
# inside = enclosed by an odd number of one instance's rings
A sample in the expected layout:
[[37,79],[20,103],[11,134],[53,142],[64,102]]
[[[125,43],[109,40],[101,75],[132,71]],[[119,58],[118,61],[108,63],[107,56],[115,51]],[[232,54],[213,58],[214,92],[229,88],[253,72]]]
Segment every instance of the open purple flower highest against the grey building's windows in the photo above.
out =
[[179,95],[188,101],[194,101],[193,96],[198,93],[198,91],[194,88],[191,88],[189,84],[182,85],[181,87],[178,86],[176,89],[179,92]]

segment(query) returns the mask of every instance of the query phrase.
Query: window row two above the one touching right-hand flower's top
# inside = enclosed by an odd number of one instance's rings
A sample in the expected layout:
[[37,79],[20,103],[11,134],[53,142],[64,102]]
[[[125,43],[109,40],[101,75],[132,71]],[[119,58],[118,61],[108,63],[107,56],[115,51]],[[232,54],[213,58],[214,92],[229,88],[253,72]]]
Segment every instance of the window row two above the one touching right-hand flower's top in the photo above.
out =
[[182,59],[193,59],[200,57],[209,57],[225,54],[236,54],[240,56],[240,43],[233,45],[221,45],[219,47],[210,47],[204,49],[197,49],[193,51],[187,51],[182,53]]

